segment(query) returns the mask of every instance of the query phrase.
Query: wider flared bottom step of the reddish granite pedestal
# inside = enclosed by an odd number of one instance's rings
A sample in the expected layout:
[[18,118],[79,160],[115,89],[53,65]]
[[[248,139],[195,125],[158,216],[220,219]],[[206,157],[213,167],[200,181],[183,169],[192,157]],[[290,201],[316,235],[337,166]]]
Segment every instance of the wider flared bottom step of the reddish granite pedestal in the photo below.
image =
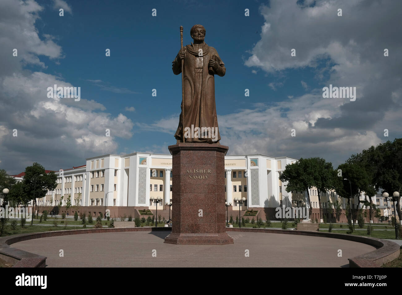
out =
[[166,244],[177,245],[227,245],[234,244],[226,232],[220,234],[180,234],[172,232],[165,238]]

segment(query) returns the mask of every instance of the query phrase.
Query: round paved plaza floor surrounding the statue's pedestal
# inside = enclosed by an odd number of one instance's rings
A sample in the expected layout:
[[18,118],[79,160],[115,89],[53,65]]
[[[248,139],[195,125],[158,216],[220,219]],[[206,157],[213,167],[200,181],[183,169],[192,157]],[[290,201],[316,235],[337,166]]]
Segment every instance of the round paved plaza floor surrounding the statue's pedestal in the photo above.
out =
[[[234,238],[230,245],[164,244],[168,234],[76,234],[27,240],[11,247],[46,256],[47,267],[348,267],[348,258],[375,250],[335,238],[252,232],[228,232]],[[59,257],[61,249],[64,257]]]

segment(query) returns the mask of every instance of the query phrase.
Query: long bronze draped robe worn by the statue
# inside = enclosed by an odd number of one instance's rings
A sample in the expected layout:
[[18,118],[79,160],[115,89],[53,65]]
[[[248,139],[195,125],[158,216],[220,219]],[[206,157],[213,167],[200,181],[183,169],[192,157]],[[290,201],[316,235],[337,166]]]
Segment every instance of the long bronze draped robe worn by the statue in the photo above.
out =
[[[202,56],[199,56],[199,48],[203,49]],[[202,127],[217,130],[217,136],[213,134],[213,137],[216,136],[217,140],[213,141],[211,136],[208,137],[206,134],[199,132],[198,137],[185,138],[185,142],[217,142],[221,137],[219,135],[219,128],[217,128],[218,120],[215,106],[214,76],[218,75],[223,77],[225,75],[225,64],[221,61],[215,48],[209,47],[205,42],[199,46],[191,43],[191,45],[183,47],[183,51],[186,52],[183,70],[184,97],[181,104],[179,124],[174,137],[177,140],[182,140],[183,130],[186,127],[191,129],[193,125],[194,130],[196,127],[200,128],[200,130]],[[172,62],[172,70],[175,75],[181,73],[181,62],[178,57],[180,52],[181,51],[179,51],[176,59]],[[216,71],[208,69],[208,63],[213,55],[215,55],[217,61],[219,61],[219,68]],[[201,138],[201,136],[204,136],[204,138]]]

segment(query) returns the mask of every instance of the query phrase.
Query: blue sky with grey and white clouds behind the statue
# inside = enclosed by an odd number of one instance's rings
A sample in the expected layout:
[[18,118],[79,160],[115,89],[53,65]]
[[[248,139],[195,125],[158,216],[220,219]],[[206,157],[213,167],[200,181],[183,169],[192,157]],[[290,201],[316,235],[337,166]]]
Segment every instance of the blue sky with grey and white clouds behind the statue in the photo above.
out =
[[[215,77],[215,98],[229,154],[324,157],[338,165],[402,135],[399,2],[95,3],[0,4],[0,168],[9,173],[35,161],[58,170],[106,153],[168,153],[180,114],[181,79],[171,69],[180,25],[186,45],[190,28],[203,24],[205,42],[226,65],[226,75]],[[48,99],[54,82],[81,87],[80,102]],[[330,83],[356,86],[356,102],[323,99]]]

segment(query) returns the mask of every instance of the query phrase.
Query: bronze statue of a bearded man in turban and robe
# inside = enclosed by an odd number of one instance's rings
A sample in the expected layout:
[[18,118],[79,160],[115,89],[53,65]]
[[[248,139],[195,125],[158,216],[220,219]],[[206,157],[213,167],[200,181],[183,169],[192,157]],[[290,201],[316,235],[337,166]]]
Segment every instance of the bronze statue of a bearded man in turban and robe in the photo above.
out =
[[[174,137],[177,142],[219,143],[221,139],[215,106],[215,75],[223,77],[225,64],[215,48],[204,42],[205,28],[196,24],[190,30],[194,43],[183,47],[172,62],[175,75],[183,67],[183,102]],[[183,134],[184,132],[184,134]]]

